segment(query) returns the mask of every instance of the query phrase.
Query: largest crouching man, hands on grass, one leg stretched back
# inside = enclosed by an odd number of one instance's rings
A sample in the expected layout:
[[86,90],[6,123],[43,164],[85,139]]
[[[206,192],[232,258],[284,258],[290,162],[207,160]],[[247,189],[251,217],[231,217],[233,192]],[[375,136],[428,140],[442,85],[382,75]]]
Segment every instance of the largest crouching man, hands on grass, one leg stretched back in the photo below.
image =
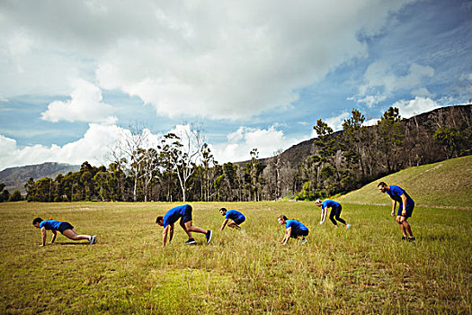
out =
[[183,204],[177,207],[170,209],[169,211],[165,212],[164,217],[158,216],[156,219],[156,223],[161,227],[164,227],[164,232],[162,234],[162,246],[165,246],[167,241],[167,235],[169,235],[169,243],[171,242],[172,238],[174,237],[174,223],[180,219],[180,225],[182,229],[187,233],[189,240],[187,240],[184,244],[191,245],[195,244],[195,238],[191,236],[191,232],[205,234],[205,238],[207,238],[207,244],[211,240],[212,231],[211,229],[200,229],[199,227],[194,227],[191,225],[191,205],[190,204]]

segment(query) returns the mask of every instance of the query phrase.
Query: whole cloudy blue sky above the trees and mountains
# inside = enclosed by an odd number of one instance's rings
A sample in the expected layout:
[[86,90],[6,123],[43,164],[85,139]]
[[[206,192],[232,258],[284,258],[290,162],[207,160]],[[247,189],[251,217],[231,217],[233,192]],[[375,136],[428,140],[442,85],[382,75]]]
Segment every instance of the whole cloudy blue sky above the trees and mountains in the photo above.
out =
[[108,165],[137,121],[219,163],[472,99],[471,0],[1,0],[0,170]]

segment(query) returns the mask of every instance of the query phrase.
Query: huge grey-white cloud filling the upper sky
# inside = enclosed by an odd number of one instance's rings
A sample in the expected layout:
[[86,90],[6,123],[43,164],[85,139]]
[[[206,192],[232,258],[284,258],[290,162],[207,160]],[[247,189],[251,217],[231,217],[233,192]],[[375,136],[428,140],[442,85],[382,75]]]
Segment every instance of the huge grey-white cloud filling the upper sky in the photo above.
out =
[[30,41],[15,58],[0,40],[0,97],[69,94],[68,78],[96,76],[158,114],[247,118],[366,56],[358,35],[411,1],[11,2],[0,28]]

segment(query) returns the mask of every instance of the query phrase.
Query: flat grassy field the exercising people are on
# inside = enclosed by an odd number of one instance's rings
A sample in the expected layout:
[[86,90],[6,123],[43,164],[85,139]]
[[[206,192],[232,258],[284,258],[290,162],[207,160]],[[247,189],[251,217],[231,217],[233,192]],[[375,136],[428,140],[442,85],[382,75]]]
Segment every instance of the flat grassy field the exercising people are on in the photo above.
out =
[[[415,243],[400,240],[389,206],[345,204],[352,229],[321,227],[313,202],[191,202],[194,224],[214,229],[184,246],[176,226],[161,247],[156,216],[174,204],[0,204],[0,312],[138,314],[472,313],[472,212],[419,207]],[[240,209],[244,230],[219,232],[218,209]],[[310,229],[281,247],[284,213]],[[40,245],[31,220],[71,222],[94,246],[58,235]],[[48,241],[50,233],[48,233]]]

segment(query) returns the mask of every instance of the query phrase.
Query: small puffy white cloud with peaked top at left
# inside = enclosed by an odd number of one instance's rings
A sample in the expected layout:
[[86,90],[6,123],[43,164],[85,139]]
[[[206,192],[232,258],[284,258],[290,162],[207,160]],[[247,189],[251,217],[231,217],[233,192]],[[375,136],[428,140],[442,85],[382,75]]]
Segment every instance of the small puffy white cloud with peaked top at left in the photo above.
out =
[[44,121],[86,121],[113,124],[116,117],[111,116],[113,107],[102,103],[102,91],[95,85],[80,80],[76,89],[66,102],[54,101],[49,103],[48,110],[41,113]]

